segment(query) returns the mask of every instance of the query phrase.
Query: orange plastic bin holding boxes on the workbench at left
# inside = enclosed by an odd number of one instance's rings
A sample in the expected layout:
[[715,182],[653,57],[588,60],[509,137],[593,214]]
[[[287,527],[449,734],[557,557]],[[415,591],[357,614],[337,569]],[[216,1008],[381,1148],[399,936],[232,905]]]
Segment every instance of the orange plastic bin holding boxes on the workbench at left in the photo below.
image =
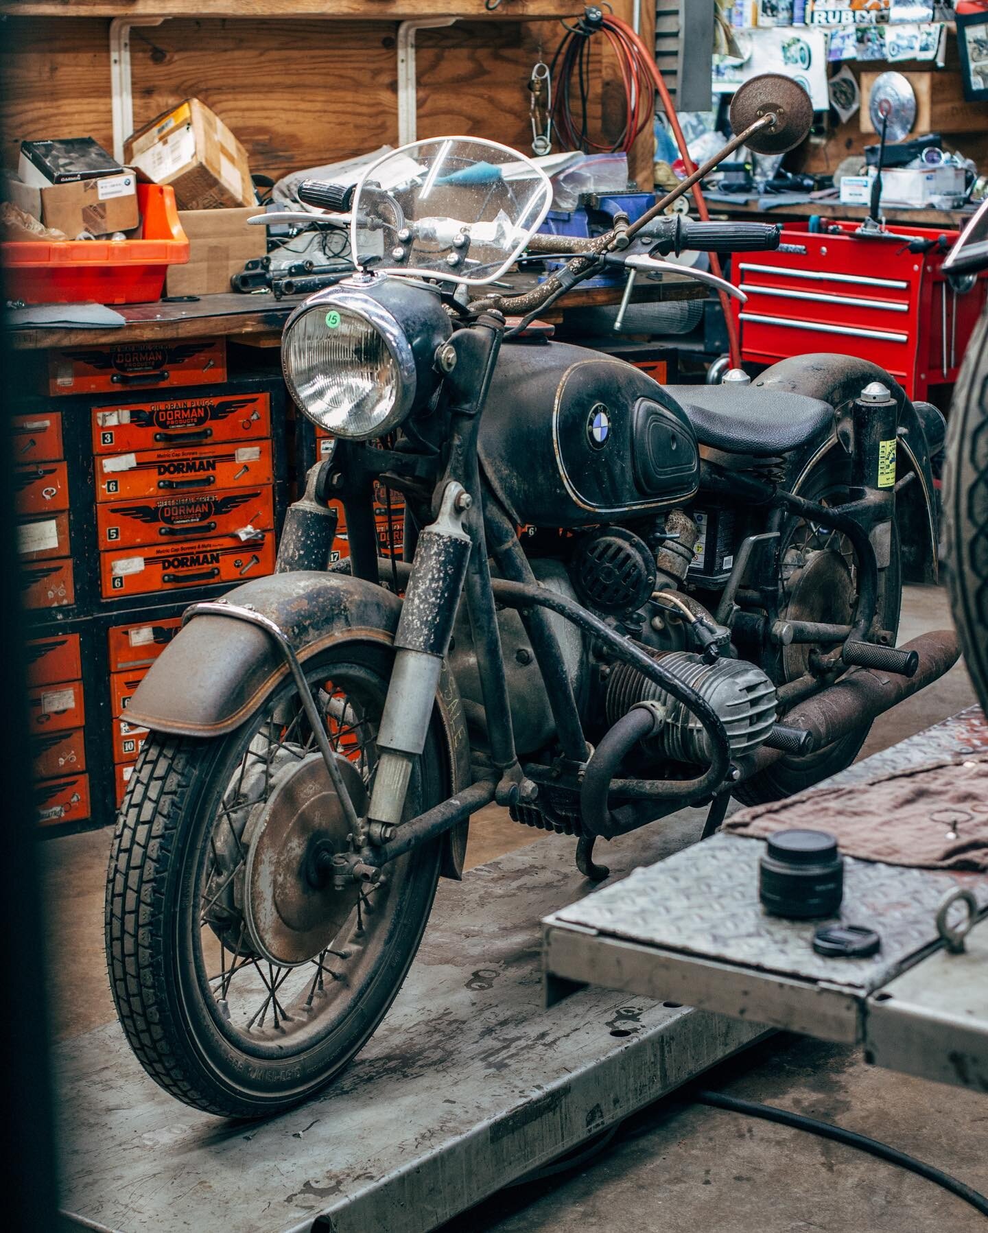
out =
[[9,240],[0,244],[10,300],[137,305],[162,298],[168,266],[189,260],[175,190],[138,184],[142,239]]

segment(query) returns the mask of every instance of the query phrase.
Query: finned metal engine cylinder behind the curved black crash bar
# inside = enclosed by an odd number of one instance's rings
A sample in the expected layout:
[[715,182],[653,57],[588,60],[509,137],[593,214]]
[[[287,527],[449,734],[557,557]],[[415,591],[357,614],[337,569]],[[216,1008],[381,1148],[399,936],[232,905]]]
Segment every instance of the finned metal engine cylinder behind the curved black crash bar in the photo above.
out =
[[[733,757],[751,753],[768,736],[776,720],[776,688],[754,663],[744,660],[717,660],[704,663],[698,655],[672,651],[656,656],[707,702],[720,716]],[[675,762],[709,761],[709,741],[701,723],[661,686],[644,677],[628,663],[615,665],[607,681],[606,710],[608,724],[615,724],[638,703],[659,703],[666,718],[652,743]]]

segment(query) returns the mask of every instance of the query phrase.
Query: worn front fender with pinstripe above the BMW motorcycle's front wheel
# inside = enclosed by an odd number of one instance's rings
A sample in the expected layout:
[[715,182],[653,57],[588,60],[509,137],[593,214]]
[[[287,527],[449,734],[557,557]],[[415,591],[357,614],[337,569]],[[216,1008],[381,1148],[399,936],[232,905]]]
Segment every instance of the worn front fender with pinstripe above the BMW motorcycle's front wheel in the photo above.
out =
[[[291,640],[298,661],[342,642],[391,646],[401,600],[384,587],[343,573],[298,571],[247,582],[224,597],[250,605]],[[236,616],[194,616],[154,661],[127,719],[155,732],[223,736],[232,732],[289,676],[274,639]],[[471,782],[470,743],[460,692],[445,663],[435,694],[450,794]],[[445,837],[443,873],[459,878],[466,824]]]

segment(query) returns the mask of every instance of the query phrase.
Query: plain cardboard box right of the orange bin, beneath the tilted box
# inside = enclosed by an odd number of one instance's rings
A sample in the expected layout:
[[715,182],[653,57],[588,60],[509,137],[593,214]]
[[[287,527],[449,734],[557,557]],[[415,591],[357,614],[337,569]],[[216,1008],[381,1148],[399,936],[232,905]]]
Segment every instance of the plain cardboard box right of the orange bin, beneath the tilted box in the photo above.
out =
[[165,293],[211,296],[229,291],[229,280],[247,261],[268,252],[265,227],[249,227],[259,206],[239,210],[180,210],[179,222],[189,237],[189,261],[169,265]]

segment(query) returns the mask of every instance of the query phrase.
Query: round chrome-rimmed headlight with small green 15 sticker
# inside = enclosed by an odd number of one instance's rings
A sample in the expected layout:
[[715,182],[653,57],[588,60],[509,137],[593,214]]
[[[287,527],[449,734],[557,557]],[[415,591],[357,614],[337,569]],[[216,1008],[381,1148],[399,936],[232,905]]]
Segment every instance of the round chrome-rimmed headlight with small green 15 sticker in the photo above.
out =
[[408,414],[416,361],[405,330],[376,300],[339,289],[292,316],[281,339],[285,381],[318,428],[382,436]]

